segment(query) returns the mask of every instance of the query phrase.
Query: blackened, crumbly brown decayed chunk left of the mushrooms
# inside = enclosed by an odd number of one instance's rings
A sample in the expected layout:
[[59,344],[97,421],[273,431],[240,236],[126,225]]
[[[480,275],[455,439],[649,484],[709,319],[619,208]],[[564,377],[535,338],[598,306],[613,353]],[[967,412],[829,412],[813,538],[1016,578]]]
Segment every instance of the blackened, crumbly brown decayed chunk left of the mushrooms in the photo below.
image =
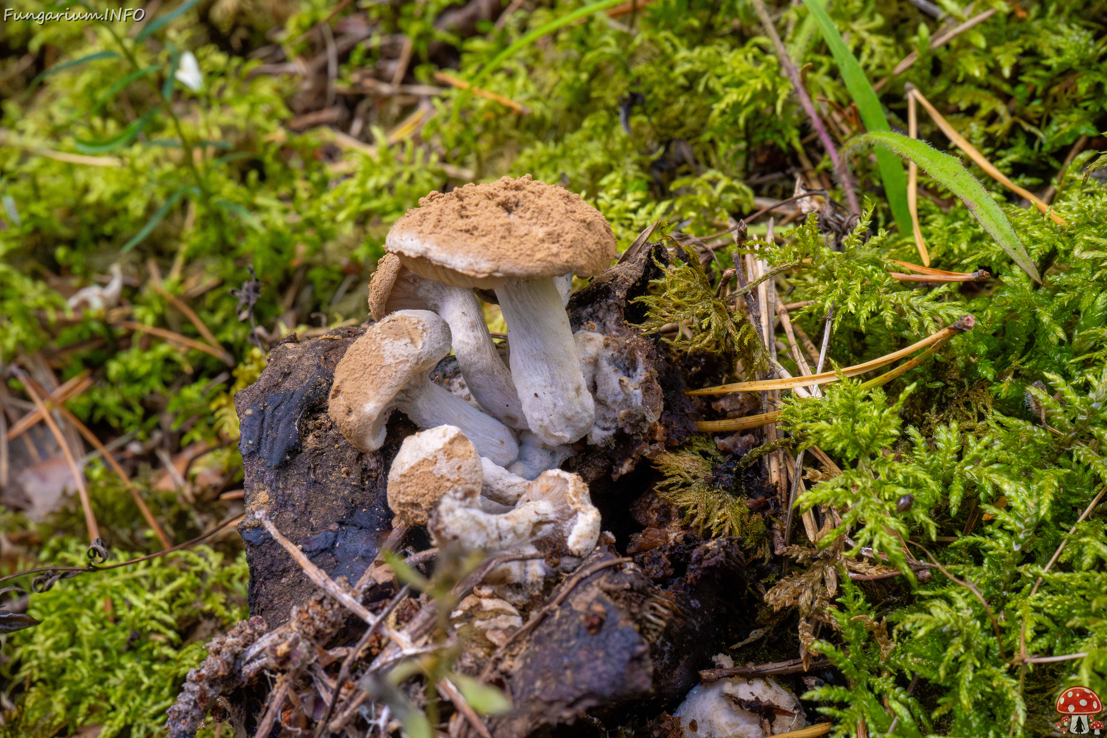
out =
[[[403,437],[414,432],[397,417],[382,449],[362,454],[328,416],[334,366],[363,333],[341,328],[311,341],[286,339],[273,347],[258,382],[235,396],[247,508],[265,509],[328,576],[351,582],[369,568],[391,529],[385,477]],[[314,585],[252,516],[239,532],[250,567],[250,613],[280,625]]]

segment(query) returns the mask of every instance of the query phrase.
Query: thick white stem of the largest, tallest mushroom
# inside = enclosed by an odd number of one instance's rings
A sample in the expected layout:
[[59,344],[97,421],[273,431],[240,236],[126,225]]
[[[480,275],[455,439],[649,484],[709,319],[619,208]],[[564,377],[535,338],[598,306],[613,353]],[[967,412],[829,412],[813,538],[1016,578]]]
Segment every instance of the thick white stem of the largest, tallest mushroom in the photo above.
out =
[[508,280],[496,297],[527,424],[550,446],[578,440],[591,429],[596,408],[554,279]]

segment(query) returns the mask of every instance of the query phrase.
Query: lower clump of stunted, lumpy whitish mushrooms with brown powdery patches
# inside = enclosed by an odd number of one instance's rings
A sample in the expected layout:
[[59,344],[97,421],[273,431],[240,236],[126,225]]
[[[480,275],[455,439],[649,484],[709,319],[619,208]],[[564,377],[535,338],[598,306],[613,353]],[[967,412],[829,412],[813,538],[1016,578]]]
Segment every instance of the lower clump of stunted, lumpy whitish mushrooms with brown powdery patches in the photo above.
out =
[[485,580],[508,601],[526,601],[555,572],[575,569],[600,538],[600,513],[580,477],[555,469],[528,481],[482,457],[455,426],[405,438],[387,493],[397,522],[426,524],[438,547],[524,557]]

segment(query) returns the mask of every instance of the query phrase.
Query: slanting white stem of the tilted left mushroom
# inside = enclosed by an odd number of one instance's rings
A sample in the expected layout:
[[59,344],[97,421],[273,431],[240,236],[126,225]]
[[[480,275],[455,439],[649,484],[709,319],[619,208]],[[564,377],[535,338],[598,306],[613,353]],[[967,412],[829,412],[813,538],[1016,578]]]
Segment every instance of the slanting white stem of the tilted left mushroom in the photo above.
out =
[[396,395],[396,407],[421,428],[457,426],[480,456],[497,464],[508,465],[519,454],[510,428],[434,384],[428,374],[416,377]]

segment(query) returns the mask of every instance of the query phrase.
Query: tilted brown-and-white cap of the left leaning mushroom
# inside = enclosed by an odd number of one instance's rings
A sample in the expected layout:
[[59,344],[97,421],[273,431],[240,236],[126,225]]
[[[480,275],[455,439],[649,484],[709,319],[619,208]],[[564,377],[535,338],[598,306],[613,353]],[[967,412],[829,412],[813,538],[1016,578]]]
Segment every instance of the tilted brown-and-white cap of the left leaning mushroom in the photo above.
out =
[[369,326],[334,367],[328,413],[350,444],[375,451],[396,394],[449,353],[446,321],[426,310],[401,310]]

